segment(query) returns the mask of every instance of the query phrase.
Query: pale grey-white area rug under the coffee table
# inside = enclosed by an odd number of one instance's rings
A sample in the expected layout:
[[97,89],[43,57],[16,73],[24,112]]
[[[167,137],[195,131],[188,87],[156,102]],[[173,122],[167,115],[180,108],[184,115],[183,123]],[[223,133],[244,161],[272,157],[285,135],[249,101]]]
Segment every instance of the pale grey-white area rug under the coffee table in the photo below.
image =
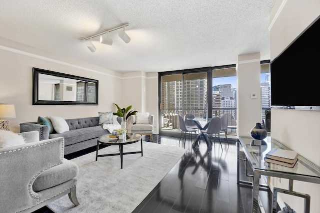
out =
[[[75,207],[68,196],[50,203],[55,213],[131,213],[178,162],[186,149],[142,142],[141,154],[99,157],[95,152],[71,161],[79,166]],[[123,152],[140,151],[140,142],[124,145]],[[99,150],[98,154],[117,153],[118,146]]]

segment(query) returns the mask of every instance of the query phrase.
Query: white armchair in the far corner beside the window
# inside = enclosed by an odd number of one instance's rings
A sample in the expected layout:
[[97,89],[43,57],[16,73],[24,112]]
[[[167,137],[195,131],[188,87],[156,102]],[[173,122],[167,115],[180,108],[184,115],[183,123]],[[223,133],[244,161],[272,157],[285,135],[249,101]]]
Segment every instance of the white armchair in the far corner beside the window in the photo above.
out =
[[136,123],[136,115],[130,115],[130,117],[127,120],[128,123],[128,132],[131,133],[137,133],[140,135],[149,135],[149,141],[153,141],[153,115],[149,115],[149,122],[144,124],[137,124]]

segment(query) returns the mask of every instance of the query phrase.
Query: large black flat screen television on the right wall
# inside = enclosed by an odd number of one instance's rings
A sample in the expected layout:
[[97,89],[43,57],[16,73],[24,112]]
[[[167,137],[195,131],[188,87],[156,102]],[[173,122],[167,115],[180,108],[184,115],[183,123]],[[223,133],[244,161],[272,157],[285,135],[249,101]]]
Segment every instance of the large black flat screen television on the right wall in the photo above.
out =
[[320,16],[270,64],[271,108],[320,110]]

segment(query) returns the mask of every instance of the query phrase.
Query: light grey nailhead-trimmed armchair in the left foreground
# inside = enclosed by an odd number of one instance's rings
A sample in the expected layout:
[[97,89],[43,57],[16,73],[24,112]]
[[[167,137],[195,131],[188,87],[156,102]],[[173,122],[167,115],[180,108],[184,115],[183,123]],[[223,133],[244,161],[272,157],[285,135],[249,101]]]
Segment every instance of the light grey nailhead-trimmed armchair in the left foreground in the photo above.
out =
[[67,195],[78,206],[78,166],[63,158],[64,138],[39,141],[39,132],[18,133],[25,144],[0,149],[0,212],[31,213]]

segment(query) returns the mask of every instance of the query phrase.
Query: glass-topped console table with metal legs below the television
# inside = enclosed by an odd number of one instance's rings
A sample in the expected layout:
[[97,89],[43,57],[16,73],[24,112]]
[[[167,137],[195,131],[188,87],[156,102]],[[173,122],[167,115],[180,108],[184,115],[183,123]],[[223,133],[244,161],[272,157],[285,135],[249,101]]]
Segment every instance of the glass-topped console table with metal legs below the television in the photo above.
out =
[[[260,175],[267,177],[278,177],[289,180],[289,186],[287,190],[278,190],[281,192],[287,192],[295,196],[303,197],[300,193],[293,192],[293,180],[310,182],[320,184],[320,168],[312,162],[306,160],[302,156],[298,156],[298,161],[293,168],[276,165],[272,163],[264,162],[265,154],[272,148],[288,149],[281,143],[271,139],[270,137],[264,140],[255,140],[247,136],[238,136],[237,140],[237,183],[249,184],[252,186],[252,213],[258,212],[258,196],[260,187],[268,187],[267,185],[260,184]],[[240,158],[241,152],[244,152],[245,159]],[[245,160],[246,165],[249,165],[253,171],[252,182],[241,181],[239,177],[239,161]],[[275,206],[272,201],[272,211],[275,212],[276,208],[276,193],[273,193],[273,199],[275,198]],[[275,196],[275,197],[274,197]],[[305,209],[308,212],[309,199],[305,198]]]

